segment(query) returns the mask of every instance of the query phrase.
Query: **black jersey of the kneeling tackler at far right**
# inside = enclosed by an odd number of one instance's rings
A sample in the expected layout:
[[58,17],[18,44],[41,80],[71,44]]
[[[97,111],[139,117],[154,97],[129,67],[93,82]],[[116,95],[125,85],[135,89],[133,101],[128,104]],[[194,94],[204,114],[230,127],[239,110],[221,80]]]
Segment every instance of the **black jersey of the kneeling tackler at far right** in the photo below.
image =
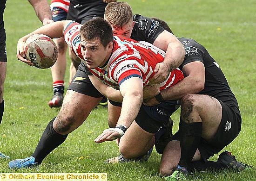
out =
[[190,62],[200,61],[205,67],[204,89],[198,94],[207,94],[221,100],[229,106],[236,107],[239,112],[238,103],[232,93],[228,81],[225,78],[218,63],[210,56],[208,51],[191,38],[178,38],[186,50],[184,61],[179,67],[181,70],[184,65]]

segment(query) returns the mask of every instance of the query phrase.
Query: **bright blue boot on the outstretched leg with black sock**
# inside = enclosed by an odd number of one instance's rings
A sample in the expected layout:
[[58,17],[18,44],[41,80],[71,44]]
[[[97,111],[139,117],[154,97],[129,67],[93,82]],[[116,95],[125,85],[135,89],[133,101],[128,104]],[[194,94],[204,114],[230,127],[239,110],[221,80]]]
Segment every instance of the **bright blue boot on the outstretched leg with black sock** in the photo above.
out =
[[9,162],[8,166],[10,169],[22,169],[27,167],[34,167],[38,165],[39,163],[34,162],[35,158],[33,156],[24,158],[24,159],[17,159],[12,160]]

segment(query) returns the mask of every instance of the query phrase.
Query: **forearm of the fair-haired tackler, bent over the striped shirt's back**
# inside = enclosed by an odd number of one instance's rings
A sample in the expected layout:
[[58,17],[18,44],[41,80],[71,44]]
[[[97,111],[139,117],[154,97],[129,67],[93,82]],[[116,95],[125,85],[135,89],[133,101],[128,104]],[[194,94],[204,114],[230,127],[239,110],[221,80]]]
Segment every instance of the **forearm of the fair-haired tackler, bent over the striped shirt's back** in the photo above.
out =
[[[178,41],[178,40],[177,40]],[[164,63],[169,66],[169,71],[172,71],[179,67],[185,57],[185,50],[180,41],[168,44]]]

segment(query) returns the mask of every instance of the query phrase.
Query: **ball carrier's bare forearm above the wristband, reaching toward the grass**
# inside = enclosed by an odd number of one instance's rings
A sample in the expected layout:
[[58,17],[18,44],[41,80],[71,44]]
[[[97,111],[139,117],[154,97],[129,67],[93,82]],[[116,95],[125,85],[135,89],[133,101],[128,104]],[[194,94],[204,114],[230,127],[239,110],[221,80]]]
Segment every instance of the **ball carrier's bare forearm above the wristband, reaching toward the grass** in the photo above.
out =
[[121,114],[116,125],[125,125],[128,128],[137,117],[141,104],[142,94],[125,94]]

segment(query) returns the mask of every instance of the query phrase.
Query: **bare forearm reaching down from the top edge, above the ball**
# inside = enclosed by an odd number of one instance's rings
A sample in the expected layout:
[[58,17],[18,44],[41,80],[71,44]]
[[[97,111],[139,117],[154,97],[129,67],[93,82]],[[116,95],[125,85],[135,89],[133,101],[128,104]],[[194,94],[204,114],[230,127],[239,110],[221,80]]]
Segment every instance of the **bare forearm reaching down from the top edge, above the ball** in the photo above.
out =
[[29,2],[34,7],[34,11],[41,22],[45,18],[52,19],[52,11],[47,0],[29,0]]

